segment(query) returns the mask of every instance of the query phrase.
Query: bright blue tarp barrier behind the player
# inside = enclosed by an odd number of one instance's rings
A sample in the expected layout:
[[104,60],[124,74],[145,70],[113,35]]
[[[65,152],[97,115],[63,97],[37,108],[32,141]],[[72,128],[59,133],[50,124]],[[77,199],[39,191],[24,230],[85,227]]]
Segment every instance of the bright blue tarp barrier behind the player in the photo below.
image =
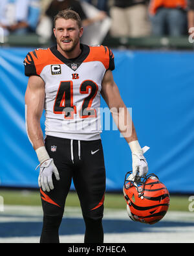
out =
[[[25,130],[23,60],[32,49],[0,49],[0,185],[38,187],[38,159]],[[194,53],[113,50],[114,80],[133,121],[149,173],[170,192],[194,192]],[[102,107],[107,107],[102,100]],[[44,127],[44,117],[41,119]],[[131,151],[115,126],[103,127],[107,191],[121,190]]]

